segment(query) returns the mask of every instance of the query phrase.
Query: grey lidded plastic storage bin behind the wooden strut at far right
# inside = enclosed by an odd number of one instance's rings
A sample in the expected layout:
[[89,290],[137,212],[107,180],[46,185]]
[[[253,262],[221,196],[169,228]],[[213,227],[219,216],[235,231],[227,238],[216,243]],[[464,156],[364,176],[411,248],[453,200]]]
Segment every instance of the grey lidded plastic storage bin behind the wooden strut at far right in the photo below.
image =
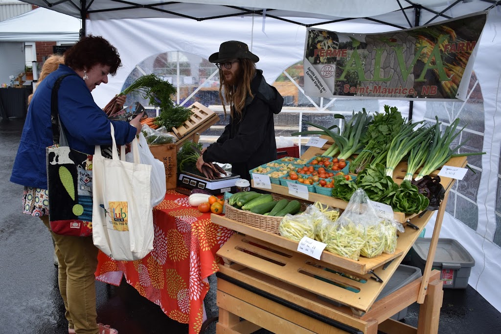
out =
[[[424,270],[431,238],[418,238],[412,246],[411,264]],[[475,260],[463,246],[454,239],[439,238],[433,269],[441,271],[443,288],[464,289],[468,286],[468,278]]]

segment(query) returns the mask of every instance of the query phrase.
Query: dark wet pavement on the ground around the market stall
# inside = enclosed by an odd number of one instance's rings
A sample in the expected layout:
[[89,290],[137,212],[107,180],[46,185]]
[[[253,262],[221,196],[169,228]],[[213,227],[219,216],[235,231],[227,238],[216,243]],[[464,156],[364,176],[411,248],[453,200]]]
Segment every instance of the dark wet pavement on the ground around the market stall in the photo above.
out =
[[[23,187],[9,182],[23,122],[0,119],[0,334],[66,334],[51,236],[39,218],[21,213]],[[214,276],[209,282],[205,305],[211,317],[217,314]],[[98,321],[120,334],[188,332],[125,280],[119,287],[97,282],[96,289]],[[418,312],[419,305],[410,305],[405,322],[416,326]],[[205,332],[214,333],[215,324]],[[471,286],[444,290],[439,333],[499,332],[501,314]]]

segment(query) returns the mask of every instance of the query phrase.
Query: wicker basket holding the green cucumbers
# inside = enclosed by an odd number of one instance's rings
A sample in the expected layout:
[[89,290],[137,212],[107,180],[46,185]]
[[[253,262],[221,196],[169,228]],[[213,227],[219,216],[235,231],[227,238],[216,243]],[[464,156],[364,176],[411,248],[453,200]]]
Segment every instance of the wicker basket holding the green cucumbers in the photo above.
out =
[[[282,196],[278,196],[276,194],[272,194],[274,200],[281,200]],[[287,198],[288,200],[297,198]],[[306,207],[310,203],[301,202],[301,211],[306,210]],[[284,217],[273,217],[273,216],[265,216],[263,214],[257,214],[250,211],[240,210],[228,204],[228,200],[224,201],[224,216],[226,218],[236,220],[240,223],[250,225],[252,227],[260,228],[264,231],[279,234],[279,224]]]

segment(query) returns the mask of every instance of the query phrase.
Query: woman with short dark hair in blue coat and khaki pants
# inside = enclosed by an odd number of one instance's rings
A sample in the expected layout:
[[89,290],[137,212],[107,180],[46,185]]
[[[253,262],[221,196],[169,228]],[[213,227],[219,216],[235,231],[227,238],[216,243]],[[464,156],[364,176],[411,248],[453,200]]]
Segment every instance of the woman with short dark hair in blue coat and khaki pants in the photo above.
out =
[[[46,148],[53,145],[51,93],[56,80],[66,74],[58,91],[60,122],[70,148],[94,154],[96,145],[110,145],[110,120],[91,91],[108,82],[121,66],[117,50],[102,37],[87,36],[65,53],[65,64],[37,87],[28,108],[11,181],[25,186],[23,212],[40,216],[49,228]],[[139,134],[140,117],[130,123],[113,122],[117,144],[130,143]],[[63,297],[68,332],[77,334],[117,333],[96,323],[94,272],[98,249],[92,237],[55,234],[59,260],[59,289]]]

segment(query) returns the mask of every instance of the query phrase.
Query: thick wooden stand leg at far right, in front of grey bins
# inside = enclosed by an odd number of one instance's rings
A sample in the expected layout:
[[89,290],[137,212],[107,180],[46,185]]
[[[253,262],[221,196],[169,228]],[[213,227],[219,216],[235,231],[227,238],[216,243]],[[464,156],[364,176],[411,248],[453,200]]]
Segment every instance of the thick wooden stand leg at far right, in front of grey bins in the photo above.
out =
[[442,307],[443,282],[435,279],[428,284],[428,294],[424,303],[419,307],[419,318],[417,322],[418,334],[438,333],[438,319],[440,317],[440,308]]

